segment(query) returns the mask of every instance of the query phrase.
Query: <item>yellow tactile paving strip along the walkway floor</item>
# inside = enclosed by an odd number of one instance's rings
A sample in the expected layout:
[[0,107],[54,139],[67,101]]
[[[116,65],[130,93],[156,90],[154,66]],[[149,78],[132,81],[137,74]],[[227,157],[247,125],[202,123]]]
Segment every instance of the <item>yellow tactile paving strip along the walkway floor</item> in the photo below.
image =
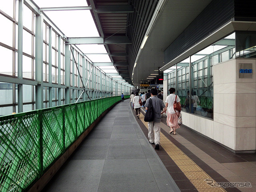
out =
[[[144,121],[144,115],[140,114],[140,116],[140,120],[146,128],[148,128],[148,123]],[[167,152],[170,158],[172,158],[199,192],[226,192],[223,188],[216,188],[208,185],[205,179],[212,178],[162,133],[160,133],[160,146]]]

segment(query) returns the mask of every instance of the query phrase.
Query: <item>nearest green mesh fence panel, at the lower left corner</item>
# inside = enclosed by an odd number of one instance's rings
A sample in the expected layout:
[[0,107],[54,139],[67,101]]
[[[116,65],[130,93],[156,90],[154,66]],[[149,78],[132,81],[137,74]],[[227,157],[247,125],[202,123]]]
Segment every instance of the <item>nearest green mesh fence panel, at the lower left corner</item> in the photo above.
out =
[[21,191],[40,174],[36,112],[5,116],[0,121],[0,191]]

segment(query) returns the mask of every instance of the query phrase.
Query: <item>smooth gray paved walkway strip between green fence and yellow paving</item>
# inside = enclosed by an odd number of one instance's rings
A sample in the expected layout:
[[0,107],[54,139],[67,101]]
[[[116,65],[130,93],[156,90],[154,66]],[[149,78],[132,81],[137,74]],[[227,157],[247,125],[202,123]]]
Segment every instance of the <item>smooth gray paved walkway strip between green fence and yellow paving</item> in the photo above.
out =
[[43,191],[180,191],[129,104],[120,102],[106,114]]

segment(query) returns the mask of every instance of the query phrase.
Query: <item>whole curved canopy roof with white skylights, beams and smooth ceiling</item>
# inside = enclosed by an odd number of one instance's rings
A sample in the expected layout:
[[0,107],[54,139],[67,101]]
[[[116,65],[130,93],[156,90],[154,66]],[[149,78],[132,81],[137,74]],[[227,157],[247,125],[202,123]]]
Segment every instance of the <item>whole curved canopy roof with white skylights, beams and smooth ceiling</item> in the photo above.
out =
[[[71,17],[65,12],[72,11],[76,18],[64,19],[72,29],[67,33],[70,44],[107,74],[138,86],[148,76],[157,76],[152,74],[164,66],[164,50],[211,0],[73,0],[67,5],[62,0],[58,6],[50,0],[35,2],[49,2],[40,7],[57,26],[63,17]],[[94,26],[87,25],[89,20]]]

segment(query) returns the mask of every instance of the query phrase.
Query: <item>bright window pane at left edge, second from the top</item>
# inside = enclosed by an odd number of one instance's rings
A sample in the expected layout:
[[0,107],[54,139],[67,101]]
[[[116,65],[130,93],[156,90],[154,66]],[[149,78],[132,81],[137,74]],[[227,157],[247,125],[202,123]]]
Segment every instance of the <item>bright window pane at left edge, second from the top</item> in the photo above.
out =
[[[0,25],[4,30],[0,30],[0,42],[12,47],[12,25],[13,22],[0,14]],[[18,31],[17,31],[18,33]]]

